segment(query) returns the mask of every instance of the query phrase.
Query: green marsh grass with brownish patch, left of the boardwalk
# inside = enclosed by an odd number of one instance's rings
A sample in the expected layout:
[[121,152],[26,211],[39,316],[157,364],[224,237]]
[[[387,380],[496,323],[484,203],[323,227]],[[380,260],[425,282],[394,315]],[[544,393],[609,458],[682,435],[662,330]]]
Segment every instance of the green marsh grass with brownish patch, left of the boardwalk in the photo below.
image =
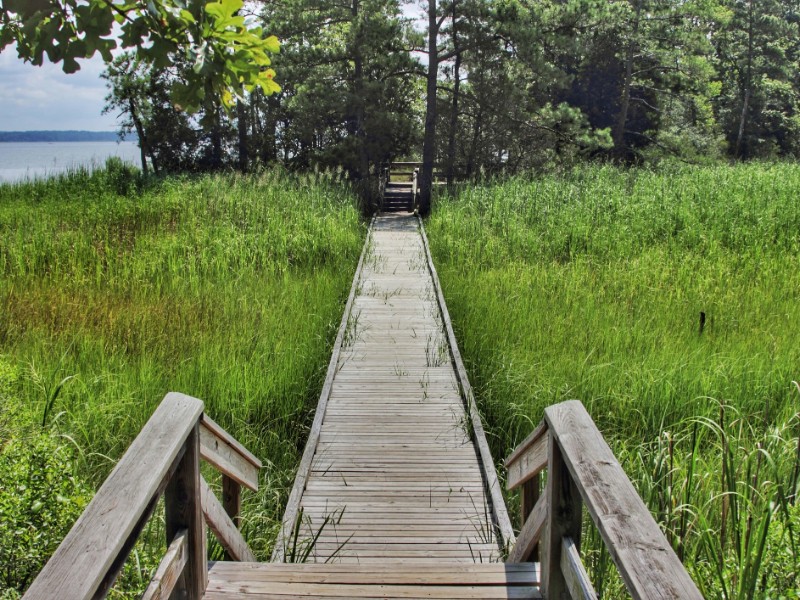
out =
[[[261,491],[245,495],[243,529],[267,560],[365,227],[349,190],[324,176],[139,187],[119,166],[0,186],[0,461],[45,432],[69,457],[25,459],[17,471],[58,469],[84,494],[167,391],[196,396],[265,464]],[[9,494],[13,475],[0,469]],[[43,526],[19,518],[31,535]],[[3,540],[14,539],[0,521]],[[148,543],[162,543],[158,527]],[[156,550],[137,553],[131,589]],[[26,577],[14,576],[0,588]]]

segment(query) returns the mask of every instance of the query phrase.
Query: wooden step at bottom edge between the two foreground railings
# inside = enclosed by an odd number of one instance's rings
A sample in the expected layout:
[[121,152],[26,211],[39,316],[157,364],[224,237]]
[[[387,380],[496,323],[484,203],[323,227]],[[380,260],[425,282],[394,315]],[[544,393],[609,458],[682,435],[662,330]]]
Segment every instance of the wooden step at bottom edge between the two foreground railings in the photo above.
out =
[[209,564],[206,600],[541,598],[538,563]]

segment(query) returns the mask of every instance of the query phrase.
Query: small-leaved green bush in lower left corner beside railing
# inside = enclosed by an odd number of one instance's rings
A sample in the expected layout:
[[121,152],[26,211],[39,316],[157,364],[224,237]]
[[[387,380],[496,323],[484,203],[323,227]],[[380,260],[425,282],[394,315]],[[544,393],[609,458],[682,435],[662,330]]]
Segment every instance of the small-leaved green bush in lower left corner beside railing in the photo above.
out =
[[25,590],[88,503],[73,455],[49,434],[0,446],[0,594]]

